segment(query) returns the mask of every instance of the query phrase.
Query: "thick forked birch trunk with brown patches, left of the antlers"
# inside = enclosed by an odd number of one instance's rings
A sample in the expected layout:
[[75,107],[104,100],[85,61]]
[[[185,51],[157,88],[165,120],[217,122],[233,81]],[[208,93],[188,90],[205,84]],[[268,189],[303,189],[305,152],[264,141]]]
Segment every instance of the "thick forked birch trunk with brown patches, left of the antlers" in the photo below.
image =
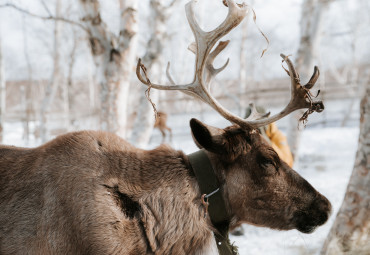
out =
[[130,74],[136,47],[137,1],[119,0],[121,19],[118,35],[109,31],[102,20],[98,0],[80,0],[79,3],[99,73],[100,128],[125,137]]

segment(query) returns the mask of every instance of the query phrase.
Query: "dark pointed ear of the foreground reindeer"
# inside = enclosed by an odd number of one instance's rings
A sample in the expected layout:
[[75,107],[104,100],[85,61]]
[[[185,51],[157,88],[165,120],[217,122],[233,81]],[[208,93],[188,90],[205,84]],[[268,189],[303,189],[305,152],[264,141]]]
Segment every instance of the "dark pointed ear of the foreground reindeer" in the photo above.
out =
[[224,130],[208,126],[197,119],[190,120],[191,133],[199,148],[221,154],[225,151]]

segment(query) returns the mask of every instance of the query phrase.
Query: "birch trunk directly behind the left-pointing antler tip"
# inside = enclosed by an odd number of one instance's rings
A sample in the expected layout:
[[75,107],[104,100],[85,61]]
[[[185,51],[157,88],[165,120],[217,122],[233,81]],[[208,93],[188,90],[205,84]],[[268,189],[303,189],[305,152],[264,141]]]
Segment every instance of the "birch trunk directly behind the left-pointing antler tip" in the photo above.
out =
[[[150,19],[148,21],[149,31],[151,31],[150,39],[147,43],[147,51],[143,56],[143,63],[151,71],[153,77],[161,77],[161,55],[168,40],[166,22],[171,13],[171,7],[176,0],[170,5],[164,6],[161,0],[150,0]],[[158,78],[156,79],[158,80]],[[161,81],[160,81],[161,83]],[[140,90],[139,106],[134,122],[134,129],[131,135],[131,142],[139,147],[144,147],[149,143],[154,126],[154,111],[152,105],[148,102],[145,96],[147,88],[142,86]],[[159,91],[151,90],[150,98],[153,102],[157,101]]]

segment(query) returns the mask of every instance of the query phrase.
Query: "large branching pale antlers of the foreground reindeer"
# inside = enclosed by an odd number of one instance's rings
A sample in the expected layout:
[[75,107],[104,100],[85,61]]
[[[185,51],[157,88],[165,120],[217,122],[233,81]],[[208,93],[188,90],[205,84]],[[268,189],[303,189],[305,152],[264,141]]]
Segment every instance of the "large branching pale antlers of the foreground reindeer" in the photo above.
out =
[[220,41],[212,52],[211,50],[224,35],[229,33],[234,27],[241,23],[248,11],[245,3],[236,4],[233,0],[224,1],[226,1],[226,5],[229,9],[226,19],[217,28],[209,32],[203,31],[195,20],[195,1],[192,0],[185,6],[186,16],[195,37],[195,43],[189,46],[189,50],[196,55],[195,74],[192,83],[186,85],[175,85],[172,77],[169,75],[169,65],[167,67],[167,76],[172,85],[159,85],[151,83],[147,77],[144,78],[141,76],[140,69],[145,70],[144,65],[141,64],[141,59],[139,59],[136,67],[138,79],[143,84],[150,86],[151,88],[160,90],[179,90],[191,96],[197,97],[214,108],[225,119],[232,123],[238,124],[240,127],[245,129],[254,129],[265,126],[298,109],[309,108],[307,115],[313,111],[322,111],[324,109],[323,103],[321,101],[313,101],[309,91],[318,79],[318,68],[315,67],[314,74],[312,75],[310,81],[305,86],[302,86],[292,62],[283,54],[281,54],[281,57],[283,58],[283,61],[288,64],[288,74],[291,77],[291,100],[280,113],[258,120],[242,119],[225,109],[214,97],[212,97],[209,91],[210,84],[214,77],[227,66],[229,60],[227,60],[226,63],[219,69],[214,68],[213,61],[218,54],[225,49],[229,41]]

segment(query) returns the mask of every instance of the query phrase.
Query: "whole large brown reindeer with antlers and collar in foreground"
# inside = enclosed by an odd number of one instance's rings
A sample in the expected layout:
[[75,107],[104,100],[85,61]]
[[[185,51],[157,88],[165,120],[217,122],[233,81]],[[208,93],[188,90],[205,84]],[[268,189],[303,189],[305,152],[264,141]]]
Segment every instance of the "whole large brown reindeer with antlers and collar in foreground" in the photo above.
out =
[[[247,7],[227,0],[225,21],[202,31],[186,5],[196,38],[189,85],[151,84],[202,99],[233,124],[224,129],[197,119],[190,128],[198,152],[167,145],[135,148],[99,131],[61,135],[37,148],[0,147],[0,254],[233,254],[227,232],[242,223],[311,233],[324,224],[330,202],[279,159],[258,133],[290,112],[321,111],[309,97],[319,71],[302,86],[289,58],[292,98],[280,113],[242,119],[209,93],[221,69],[216,42],[245,17]],[[256,117],[256,114],[252,114]]]

